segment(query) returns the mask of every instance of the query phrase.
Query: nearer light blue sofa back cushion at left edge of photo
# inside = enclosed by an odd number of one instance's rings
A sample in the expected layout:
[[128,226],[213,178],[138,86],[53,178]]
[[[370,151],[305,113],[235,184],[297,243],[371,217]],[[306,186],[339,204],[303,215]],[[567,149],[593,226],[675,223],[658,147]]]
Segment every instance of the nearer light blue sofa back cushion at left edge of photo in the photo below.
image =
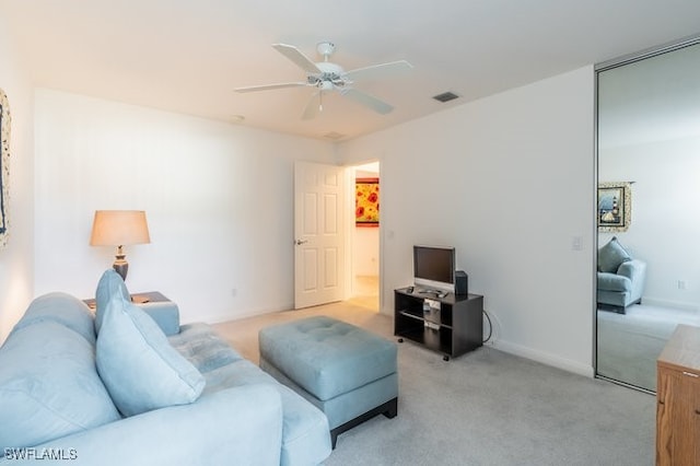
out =
[[12,331],[0,349],[0,455],[120,419],[94,350],[50,319]]

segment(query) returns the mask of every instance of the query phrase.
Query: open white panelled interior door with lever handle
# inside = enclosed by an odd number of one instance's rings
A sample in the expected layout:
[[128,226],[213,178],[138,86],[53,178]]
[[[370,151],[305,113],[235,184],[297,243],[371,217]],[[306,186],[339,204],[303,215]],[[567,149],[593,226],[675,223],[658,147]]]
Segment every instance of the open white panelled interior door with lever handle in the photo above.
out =
[[294,165],[294,308],[342,299],[343,172],[335,165]]

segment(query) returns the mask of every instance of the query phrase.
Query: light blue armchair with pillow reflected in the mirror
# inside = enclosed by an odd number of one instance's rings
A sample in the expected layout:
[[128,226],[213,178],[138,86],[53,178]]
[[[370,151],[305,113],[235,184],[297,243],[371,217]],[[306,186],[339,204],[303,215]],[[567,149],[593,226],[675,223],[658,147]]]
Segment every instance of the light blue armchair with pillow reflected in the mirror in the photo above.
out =
[[641,304],[646,280],[646,263],[634,259],[612,237],[598,249],[598,307],[625,314],[628,306]]

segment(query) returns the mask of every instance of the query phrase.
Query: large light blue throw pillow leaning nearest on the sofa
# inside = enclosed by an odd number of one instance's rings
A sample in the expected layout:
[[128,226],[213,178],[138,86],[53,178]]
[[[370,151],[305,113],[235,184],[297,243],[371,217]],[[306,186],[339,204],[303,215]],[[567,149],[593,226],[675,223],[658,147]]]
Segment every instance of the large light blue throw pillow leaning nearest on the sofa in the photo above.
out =
[[138,306],[115,293],[97,335],[97,370],[125,416],[195,401],[205,378]]

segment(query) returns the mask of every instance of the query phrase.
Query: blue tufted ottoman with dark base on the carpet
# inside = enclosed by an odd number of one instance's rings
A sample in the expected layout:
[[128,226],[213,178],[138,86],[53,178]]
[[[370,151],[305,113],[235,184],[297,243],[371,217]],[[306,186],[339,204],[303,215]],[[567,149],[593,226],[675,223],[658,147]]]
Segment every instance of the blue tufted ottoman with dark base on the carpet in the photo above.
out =
[[397,413],[396,343],[354,325],[318,316],[264,328],[260,368],[308,399],[338,434]]

